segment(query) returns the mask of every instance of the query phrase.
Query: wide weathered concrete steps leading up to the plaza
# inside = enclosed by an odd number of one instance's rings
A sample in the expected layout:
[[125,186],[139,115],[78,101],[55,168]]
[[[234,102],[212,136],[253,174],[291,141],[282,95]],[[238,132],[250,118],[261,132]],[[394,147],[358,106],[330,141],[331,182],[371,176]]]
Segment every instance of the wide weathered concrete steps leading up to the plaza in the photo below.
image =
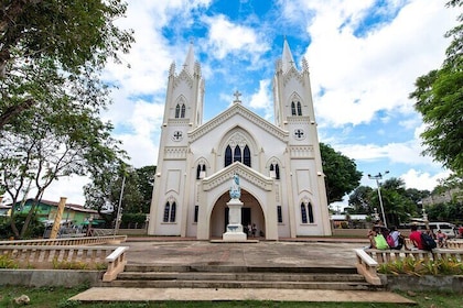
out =
[[355,267],[254,267],[207,265],[126,266],[116,280],[103,287],[125,288],[273,288],[326,290],[383,290],[357,274]]

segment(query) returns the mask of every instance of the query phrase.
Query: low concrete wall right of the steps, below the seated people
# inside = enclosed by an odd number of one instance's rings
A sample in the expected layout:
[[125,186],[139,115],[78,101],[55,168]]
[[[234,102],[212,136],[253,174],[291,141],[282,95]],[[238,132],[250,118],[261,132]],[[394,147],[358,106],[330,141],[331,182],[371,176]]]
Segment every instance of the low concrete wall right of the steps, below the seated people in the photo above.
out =
[[463,294],[463,275],[380,275],[389,290],[440,290]]

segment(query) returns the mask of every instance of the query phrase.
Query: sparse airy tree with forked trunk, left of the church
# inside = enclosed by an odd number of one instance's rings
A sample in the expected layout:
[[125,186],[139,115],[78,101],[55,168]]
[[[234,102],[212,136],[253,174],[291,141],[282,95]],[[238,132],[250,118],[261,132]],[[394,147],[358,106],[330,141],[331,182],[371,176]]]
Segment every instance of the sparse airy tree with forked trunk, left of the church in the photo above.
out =
[[35,189],[35,204],[21,231],[12,213],[11,228],[18,238],[24,237],[35,205],[54,180],[94,174],[101,165],[125,156],[120,142],[110,138],[109,123],[96,118],[94,109],[69,102],[63,102],[61,111],[33,107],[33,117],[21,114],[22,124],[9,128],[0,139],[0,175],[13,205]]

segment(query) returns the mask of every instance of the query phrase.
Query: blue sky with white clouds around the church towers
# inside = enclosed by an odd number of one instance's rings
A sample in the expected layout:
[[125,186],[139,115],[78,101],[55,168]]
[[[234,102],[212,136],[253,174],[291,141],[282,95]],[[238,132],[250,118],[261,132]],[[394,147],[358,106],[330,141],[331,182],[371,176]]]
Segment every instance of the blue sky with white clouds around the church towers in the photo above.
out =
[[[179,73],[193,42],[202,65],[205,121],[239,90],[243,103],[273,122],[271,79],[286,36],[309,62],[320,141],[354,158],[362,185],[389,170],[408,188],[432,189],[449,173],[420,152],[423,124],[408,94],[439,68],[457,10],[435,0],[130,0],[122,28],[136,43],[104,78],[118,85],[105,119],[136,167],[155,165],[169,67]],[[127,68],[127,65],[130,68]],[[83,204],[80,184],[61,180],[44,198]],[[78,185],[76,185],[78,183]]]

